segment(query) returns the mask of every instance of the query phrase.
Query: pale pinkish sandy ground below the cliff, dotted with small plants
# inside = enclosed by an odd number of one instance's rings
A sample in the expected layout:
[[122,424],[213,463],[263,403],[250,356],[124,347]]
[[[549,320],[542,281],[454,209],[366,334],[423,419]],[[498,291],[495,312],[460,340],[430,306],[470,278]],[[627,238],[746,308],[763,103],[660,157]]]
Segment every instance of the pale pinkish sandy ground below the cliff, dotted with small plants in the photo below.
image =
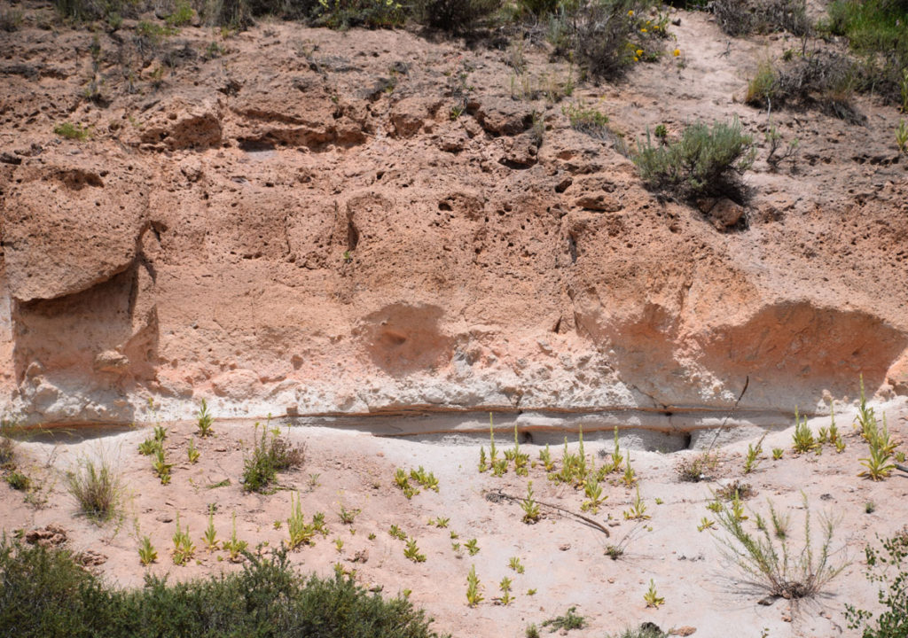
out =
[[[878,408],[879,409],[879,408]],[[889,405],[886,414],[891,431],[902,440],[908,438],[908,410]],[[836,454],[824,447],[820,456],[795,456],[791,451],[792,428],[767,435],[765,455],[757,470],[743,475],[743,454],[747,442],[719,450],[723,459],[715,481],[681,483],[676,465],[694,455],[682,452],[664,455],[632,451],[633,466],[639,477],[640,495],[646,503],[644,523],[624,520],[633,491],[625,486],[607,484],[606,505],[594,517],[607,525],[610,537],[576,520],[548,513],[538,525],[520,521],[518,505],[493,503],[485,498],[489,490],[501,489],[523,496],[528,480],[533,481],[539,501],[558,504],[579,512],[583,500],[579,492],[548,481],[541,466],[530,470],[528,478],[496,478],[479,474],[478,445],[442,446],[407,440],[372,437],[362,432],[324,427],[284,429],[294,442],[304,443],[307,458],[301,469],[280,476],[281,489],[270,496],[245,494],[240,485],[242,460],[251,447],[252,423],[216,423],[216,437],[196,438],[200,461],[189,464],[186,447],[194,424],[166,424],[167,456],[173,467],[173,482],[162,486],[151,469],[147,456],[140,456],[137,445],[151,434],[141,428],[116,435],[57,437],[57,442],[32,439],[17,446],[20,464],[42,477],[49,486],[49,502],[42,509],[24,503],[21,493],[0,486],[0,518],[7,534],[16,529],[56,523],[69,535],[74,550],[93,549],[108,557],[101,573],[123,586],[142,584],[145,574],[170,574],[173,579],[189,579],[224,570],[239,569],[201,549],[202,530],[209,505],[216,507],[215,525],[220,538],[230,534],[231,517],[236,514],[238,536],[251,546],[278,545],[287,536],[286,523],[275,529],[275,522],[290,514],[291,496],[301,495],[307,516],[326,514],[330,535],[292,554],[304,573],[328,575],[341,561],[345,569],[355,569],[356,578],[366,585],[380,585],[384,594],[410,590],[411,600],[428,610],[439,631],[457,636],[518,636],[528,623],[565,613],[577,605],[577,613],[587,619],[587,628],[573,636],[603,636],[625,626],[651,621],[663,629],[694,627],[697,636],[768,635],[827,637],[858,635],[844,622],[846,603],[874,608],[875,590],[864,578],[864,545],[874,535],[891,535],[906,519],[908,476],[891,476],[881,483],[859,478],[859,458],[867,446],[851,427],[852,417],[842,414],[837,422],[846,434],[847,448]],[[814,432],[828,425],[828,418],[811,422]],[[572,437],[576,442],[576,437]],[[752,441],[755,442],[755,441]],[[512,445],[506,432],[498,433],[498,446]],[[538,447],[524,446],[530,457],[538,457]],[[572,443],[576,448],[576,443]],[[785,456],[773,460],[770,450],[784,447]],[[609,450],[605,443],[587,443],[587,454]],[[901,447],[905,449],[903,445]],[[95,526],[77,515],[74,501],[65,491],[64,468],[85,456],[104,454],[114,460],[125,483],[125,513],[118,523]],[[558,461],[561,450],[553,450]],[[599,456],[597,463],[601,462]],[[47,467],[53,464],[52,468]],[[439,478],[439,493],[423,491],[408,501],[394,486],[397,467],[424,466]],[[613,475],[614,476],[614,475]],[[617,476],[616,476],[617,478]],[[224,479],[229,486],[210,487]],[[791,531],[799,538],[803,522],[802,492],[814,516],[814,532],[819,532],[823,512],[838,520],[834,536],[834,564],[850,562],[823,595],[805,601],[797,609],[780,600],[771,606],[758,604],[765,593],[743,582],[733,564],[720,552],[717,539],[722,532],[698,532],[703,516],[715,518],[706,510],[710,491],[734,479],[749,483],[756,490],[747,506],[767,514],[766,501],[791,515]],[[656,505],[656,498],[662,504]],[[873,502],[873,514],[865,504]],[[338,512],[361,509],[353,525],[342,525]],[[175,516],[188,525],[200,549],[196,561],[184,567],[173,564],[169,548]],[[449,517],[448,528],[428,524],[429,518]],[[754,515],[751,514],[753,522]],[[392,538],[390,525],[399,525],[417,539],[427,556],[414,564],[403,555],[404,544]],[[748,523],[749,525],[749,523]],[[137,554],[137,530],[150,535],[159,560],[143,568]],[[355,534],[354,534],[355,531]],[[458,555],[452,550],[450,532],[459,542],[476,538],[479,554]],[[369,535],[374,534],[374,539]],[[334,540],[343,541],[341,552]],[[793,541],[794,546],[800,544]],[[617,561],[605,555],[606,546],[623,545],[625,554]],[[267,548],[266,548],[267,551]],[[365,562],[352,559],[363,552]],[[362,555],[360,555],[362,556]],[[508,569],[508,558],[518,556],[526,566],[525,574]],[[471,565],[484,585],[486,600],[478,608],[466,604],[466,578]],[[516,600],[501,606],[493,603],[498,582],[510,576]],[[647,609],[644,602],[649,580],[666,603]],[[536,590],[528,595],[528,590]]]

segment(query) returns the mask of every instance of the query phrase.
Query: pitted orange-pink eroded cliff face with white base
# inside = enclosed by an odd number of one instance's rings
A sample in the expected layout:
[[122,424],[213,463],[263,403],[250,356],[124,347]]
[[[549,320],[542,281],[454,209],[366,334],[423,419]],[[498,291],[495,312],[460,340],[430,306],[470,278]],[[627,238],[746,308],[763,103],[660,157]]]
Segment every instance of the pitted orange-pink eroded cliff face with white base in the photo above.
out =
[[[269,25],[206,60],[211,38],[163,44],[182,53],[154,88],[159,63],[127,80],[129,43],[103,35],[99,106],[80,93],[89,34],[0,35],[0,411],[724,409],[748,377],[742,407],[785,411],[854,397],[859,374],[908,392],[893,113],[780,113],[800,171],[758,162],[746,210],[697,210],[644,190],[562,104],[628,140],[695,117],[756,129],[716,70],[755,44],[553,104],[512,99],[502,52],[416,34]],[[64,120],[91,138],[55,136]]]

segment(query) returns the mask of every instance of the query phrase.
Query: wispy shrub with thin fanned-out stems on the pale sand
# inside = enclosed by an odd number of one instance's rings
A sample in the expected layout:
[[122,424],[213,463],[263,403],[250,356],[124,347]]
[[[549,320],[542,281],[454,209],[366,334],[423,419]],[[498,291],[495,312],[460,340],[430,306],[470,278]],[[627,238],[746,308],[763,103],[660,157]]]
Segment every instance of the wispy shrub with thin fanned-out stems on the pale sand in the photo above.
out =
[[[830,545],[835,530],[834,521],[823,519],[823,542],[814,555],[810,529],[810,508],[804,496],[804,547],[794,551],[788,535],[779,537],[778,544],[766,525],[758,526],[759,534],[752,534],[744,527],[746,516],[733,507],[719,503],[716,507],[719,525],[728,533],[722,540],[725,556],[735,563],[754,584],[765,587],[772,595],[798,599],[818,594],[825,584],[845,568],[845,564],[830,563]],[[775,510],[770,504],[770,511]],[[762,517],[757,516],[758,520]]]

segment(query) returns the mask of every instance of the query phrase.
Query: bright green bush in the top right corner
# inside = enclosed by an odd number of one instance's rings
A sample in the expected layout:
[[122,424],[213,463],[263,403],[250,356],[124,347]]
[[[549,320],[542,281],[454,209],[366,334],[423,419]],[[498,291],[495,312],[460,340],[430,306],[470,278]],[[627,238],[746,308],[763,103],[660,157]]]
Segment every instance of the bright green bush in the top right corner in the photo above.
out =
[[859,90],[883,95],[908,107],[908,2],[905,0],[835,0],[825,25],[845,35],[864,58]]

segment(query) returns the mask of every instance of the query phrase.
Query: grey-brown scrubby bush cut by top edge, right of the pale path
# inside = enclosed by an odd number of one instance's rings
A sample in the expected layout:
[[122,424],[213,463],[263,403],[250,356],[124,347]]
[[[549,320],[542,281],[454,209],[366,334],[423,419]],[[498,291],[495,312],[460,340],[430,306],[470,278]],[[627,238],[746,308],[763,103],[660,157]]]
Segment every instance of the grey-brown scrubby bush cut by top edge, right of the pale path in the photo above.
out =
[[716,23],[725,34],[767,34],[787,31],[795,35],[811,32],[804,0],[715,0]]

